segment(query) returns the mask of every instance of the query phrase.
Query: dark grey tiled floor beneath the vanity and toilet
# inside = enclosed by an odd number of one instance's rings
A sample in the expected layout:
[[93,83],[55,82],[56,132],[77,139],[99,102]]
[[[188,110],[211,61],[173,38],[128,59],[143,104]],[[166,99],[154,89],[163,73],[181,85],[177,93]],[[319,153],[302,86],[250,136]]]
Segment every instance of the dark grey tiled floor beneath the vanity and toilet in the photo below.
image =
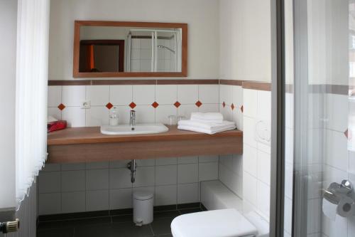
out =
[[107,216],[71,221],[40,222],[37,237],[148,237],[172,236],[170,223],[181,214],[202,211],[200,208],[154,212],[153,223],[135,226],[129,215]]

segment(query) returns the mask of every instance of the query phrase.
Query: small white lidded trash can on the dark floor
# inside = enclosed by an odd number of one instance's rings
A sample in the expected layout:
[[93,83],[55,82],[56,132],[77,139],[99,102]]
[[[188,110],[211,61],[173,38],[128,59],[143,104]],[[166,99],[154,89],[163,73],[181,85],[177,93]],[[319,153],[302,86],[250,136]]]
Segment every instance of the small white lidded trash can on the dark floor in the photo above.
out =
[[153,200],[150,191],[133,192],[133,222],[136,226],[153,222]]

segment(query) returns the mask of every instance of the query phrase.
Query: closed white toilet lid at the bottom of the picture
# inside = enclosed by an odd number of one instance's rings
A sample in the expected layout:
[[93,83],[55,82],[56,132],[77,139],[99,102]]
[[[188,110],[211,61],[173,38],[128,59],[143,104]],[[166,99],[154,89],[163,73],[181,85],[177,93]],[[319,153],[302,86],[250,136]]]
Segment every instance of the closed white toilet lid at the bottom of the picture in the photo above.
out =
[[256,236],[258,231],[236,209],[202,211],[176,217],[171,223],[174,237]]

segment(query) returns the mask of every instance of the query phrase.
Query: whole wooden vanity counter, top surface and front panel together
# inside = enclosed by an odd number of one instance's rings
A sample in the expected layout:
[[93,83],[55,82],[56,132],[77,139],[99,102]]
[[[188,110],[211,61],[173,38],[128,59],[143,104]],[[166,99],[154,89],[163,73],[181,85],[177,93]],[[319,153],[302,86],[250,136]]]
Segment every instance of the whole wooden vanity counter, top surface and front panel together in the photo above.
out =
[[75,127],[48,133],[48,162],[102,162],[196,155],[242,154],[243,132],[215,135],[178,130],[148,135],[103,135],[100,127]]

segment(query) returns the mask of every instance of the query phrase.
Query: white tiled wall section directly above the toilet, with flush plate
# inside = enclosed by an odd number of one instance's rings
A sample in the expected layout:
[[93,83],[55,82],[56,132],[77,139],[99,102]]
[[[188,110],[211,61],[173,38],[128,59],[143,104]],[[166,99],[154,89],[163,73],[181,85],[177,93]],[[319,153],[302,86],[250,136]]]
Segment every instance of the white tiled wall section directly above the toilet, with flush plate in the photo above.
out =
[[[271,144],[270,140],[261,140],[259,137],[270,136],[271,92],[244,88],[243,102],[244,211],[256,210],[268,220],[270,214]],[[259,134],[261,131],[266,133],[261,135],[261,133]]]

